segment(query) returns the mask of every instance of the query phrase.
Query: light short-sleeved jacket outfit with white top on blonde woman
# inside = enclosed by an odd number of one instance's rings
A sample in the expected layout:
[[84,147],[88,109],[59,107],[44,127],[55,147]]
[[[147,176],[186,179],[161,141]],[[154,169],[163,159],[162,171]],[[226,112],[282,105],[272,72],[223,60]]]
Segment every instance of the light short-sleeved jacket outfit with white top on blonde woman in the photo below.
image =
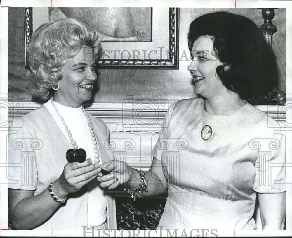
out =
[[[60,177],[64,166],[68,163],[65,154],[73,148],[68,136],[63,133],[64,127],[59,127],[59,118],[52,115],[54,109],[47,102],[44,106],[35,109],[21,119],[13,122],[8,135],[8,168],[9,188],[35,190],[34,195],[44,191],[50,182]],[[57,104],[55,102],[55,104]],[[56,105],[60,109],[60,105]],[[74,134],[74,126],[69,125],[72,117],[75,122],[84,117],[81,108],[72,111],[61,107],[60,113],[79,148],[84,148],[87,155],[93,160],[91,137],[80,141],[78,133]],[[70,112],[71,111],[71,112]],[[113,159],[111,150],[105,147],[108,139],[106,124],[90,114],[93,130],[98,142],[99,154],[102,162]],[[56,121],[55,121],[56,120]],[[86,118],[84,117],[84,120]],[[68,121],[68,122],[67,122]],[[85,121],[87,124],[87,121]],[[78,126],[78,125],[77,125]],[[79,124],[80,126],[80,124]],[[83,127],[80,126],[82,129]],[[80,129],[78,128],[78,129]],[[88,125],[81,133],[89,135]],[[88,144],[88,146],[86,145]],[[88,157],[87,157],[88,158]],[[17,191],[15,191],[17,192]],[[65,203],[55,210],[52,216],[34,230],[83,230],[82,226],[99,226],[107,221],[110,229],[116,229],[115,201],[113,194],[104,195],[99,182],[93,179],[76,193],[67,196]]]

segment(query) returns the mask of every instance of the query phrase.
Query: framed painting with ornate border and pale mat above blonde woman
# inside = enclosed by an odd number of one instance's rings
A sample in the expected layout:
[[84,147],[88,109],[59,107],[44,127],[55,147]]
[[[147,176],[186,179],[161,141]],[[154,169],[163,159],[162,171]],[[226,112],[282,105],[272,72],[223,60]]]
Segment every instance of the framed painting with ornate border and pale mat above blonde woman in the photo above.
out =
[[[99,69],[178,69],[179,8],[24,8],[25,47],[60,18],[84,20],[100,37]],[[25,67],[29,69],[25,50]]]

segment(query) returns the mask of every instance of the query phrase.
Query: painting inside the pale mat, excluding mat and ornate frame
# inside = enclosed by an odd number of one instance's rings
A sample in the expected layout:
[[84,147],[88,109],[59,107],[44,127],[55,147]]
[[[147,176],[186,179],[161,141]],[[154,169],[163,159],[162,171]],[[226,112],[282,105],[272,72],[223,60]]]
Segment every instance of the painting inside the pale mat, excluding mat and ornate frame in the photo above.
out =
[[50,20],[74,18],[89,23],[102,42],[152,40],[151,7],[51,7]]

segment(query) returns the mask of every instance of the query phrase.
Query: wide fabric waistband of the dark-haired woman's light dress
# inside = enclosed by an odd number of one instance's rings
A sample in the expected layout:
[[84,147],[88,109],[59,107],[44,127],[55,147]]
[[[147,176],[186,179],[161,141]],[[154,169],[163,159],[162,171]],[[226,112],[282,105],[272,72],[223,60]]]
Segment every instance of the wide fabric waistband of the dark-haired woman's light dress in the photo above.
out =
[[256,203],[254,200],[231,201],[211,198],[173,185],[168,188],[169,198],[194,212],[234,218],[252,217]]

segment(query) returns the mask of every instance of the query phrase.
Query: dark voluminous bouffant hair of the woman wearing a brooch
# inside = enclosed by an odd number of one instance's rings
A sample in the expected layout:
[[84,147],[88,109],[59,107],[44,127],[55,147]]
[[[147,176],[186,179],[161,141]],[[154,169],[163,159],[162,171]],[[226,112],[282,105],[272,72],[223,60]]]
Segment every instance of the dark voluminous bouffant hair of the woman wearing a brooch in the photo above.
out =
[[204,35],[212,36],[214,50],[223,63],[216,72],[228,90],[248,99],[264,95],[276,85],[276,57],[263,32],[252,20],[221,11],[200,16],[190,24],[190,51],[194,41]]

